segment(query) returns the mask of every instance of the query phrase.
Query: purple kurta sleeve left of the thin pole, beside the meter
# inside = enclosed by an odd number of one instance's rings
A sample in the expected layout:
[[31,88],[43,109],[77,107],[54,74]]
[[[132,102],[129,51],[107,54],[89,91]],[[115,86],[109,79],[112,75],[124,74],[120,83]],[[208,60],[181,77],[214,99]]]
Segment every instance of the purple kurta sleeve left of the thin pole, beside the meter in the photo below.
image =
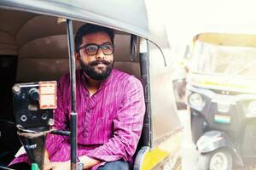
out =
[[[65,82],[65,78],[61,78],[58,82],[57,88],[57,108],[54,110],[55,124],[53,128],[58,130],[69,130],[67,128],[67,116],[64,109],[64,94],[62,84]],[[61,148],[64,143],[67,143],[67,136],[61,136],[57,134],[47,134],[45,149],[49,152],[49,158],[55,154],[57,150]]]

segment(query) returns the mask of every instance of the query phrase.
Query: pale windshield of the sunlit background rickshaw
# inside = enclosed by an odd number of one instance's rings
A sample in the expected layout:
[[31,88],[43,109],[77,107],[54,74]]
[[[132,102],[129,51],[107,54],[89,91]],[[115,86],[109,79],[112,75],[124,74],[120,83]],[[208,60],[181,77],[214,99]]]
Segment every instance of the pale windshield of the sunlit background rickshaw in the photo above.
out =
[[256,76],[256,71],[253,71],[256,69],[253,67],[255,62],[256,48],[254,47],[195,41],[191,71],[224,77],[253,78]]

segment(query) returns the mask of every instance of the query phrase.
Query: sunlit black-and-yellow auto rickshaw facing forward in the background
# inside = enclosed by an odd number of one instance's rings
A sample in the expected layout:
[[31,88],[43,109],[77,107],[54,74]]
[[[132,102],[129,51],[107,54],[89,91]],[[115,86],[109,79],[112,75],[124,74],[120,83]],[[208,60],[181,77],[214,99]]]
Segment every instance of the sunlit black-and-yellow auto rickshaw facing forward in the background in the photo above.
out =
[[256,35],[194,38],[188,106],[201,169],[255,167]]

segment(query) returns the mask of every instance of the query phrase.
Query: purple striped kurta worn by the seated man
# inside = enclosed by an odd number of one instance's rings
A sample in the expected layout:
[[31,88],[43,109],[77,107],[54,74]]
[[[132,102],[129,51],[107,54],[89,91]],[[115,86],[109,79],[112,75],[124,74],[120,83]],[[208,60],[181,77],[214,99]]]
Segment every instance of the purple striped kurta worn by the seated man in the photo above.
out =
[[[77,71],[76,109],[78,112],[78,156],[106,161],[132,161],[143,127],[145,112],[143,86],[134,76],[113,69],[91,97],[83,71]],[[69,130],[71,86],[69,75],[58,82],[58,108],[55,109],[56,129]],[[70,160],[68,137],[48,134],[46,150],[50,161]],[[27,161],[20,156],[12,161]]]

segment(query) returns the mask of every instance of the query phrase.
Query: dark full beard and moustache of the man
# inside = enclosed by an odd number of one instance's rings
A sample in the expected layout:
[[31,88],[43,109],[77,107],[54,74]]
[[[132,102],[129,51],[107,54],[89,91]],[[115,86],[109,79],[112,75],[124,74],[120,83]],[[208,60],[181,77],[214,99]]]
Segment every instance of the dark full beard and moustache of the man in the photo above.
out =
[[[84,73],[96,81],[103,81],[109,77],[113,69],[114,61],[107,61],[104,59],[97,59],[90,61],[88,64],[85,64],[82,59],[80,59],[80,65]],[[103,64],[106,65],[105,68],[96,69],[96,65]]]

